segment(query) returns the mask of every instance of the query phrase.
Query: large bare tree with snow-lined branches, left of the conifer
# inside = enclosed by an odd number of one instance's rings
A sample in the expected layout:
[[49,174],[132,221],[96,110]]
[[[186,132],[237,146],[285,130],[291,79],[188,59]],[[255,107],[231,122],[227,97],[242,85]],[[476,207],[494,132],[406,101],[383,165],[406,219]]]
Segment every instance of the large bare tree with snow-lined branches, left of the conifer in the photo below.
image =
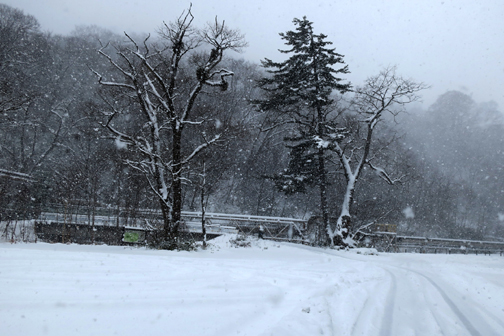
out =
[[[202,132],[200,145],[187,149],[184,130],[204,122],[194,120],[192,112],[205,87],[227,89],[226,77],[233,73],[218,68],[224,53],[239,51],[246,45],[243,36],[225,22],[215,19],[199,30],[193,27],[193,20],[189,8],[175,22],[165,23],[159,31],[164,47],[149,44],[149,37],[140,45],[125,33],[129,43],[115,47],[117,58],[105,52],[106,46],[99,50],[121,79],[105,80],[95,72],[99,83],[116,93],[114,101],[109,101],[104,125],[118,143],[137,154],[137,159],[128,163],[145,174],[157,195],[167,240],[178,238],[184,170],[196,155],[221,137],[218,133],[210,137]],[[193,75],[188,74],[191,69]],[[116,103],[118,97],[124,101],[122,108]],[[126,109],[126,103],[133,107]],[[120,129],[115,122],[125,110],[140,113],[143,123],[133,130]]]

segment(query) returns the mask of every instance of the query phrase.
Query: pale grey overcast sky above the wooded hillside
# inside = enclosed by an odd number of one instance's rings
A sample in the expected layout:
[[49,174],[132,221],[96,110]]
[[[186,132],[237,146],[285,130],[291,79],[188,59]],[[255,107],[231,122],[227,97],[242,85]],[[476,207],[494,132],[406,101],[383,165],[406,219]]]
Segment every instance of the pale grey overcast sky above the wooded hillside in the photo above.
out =
[[[76,25],[95,24],[115,32],[154,33],[173,21],[185,0],[0,0],[34,15],[42,29],[68,34]],[[245,34],[242,55],[257,62],[282,60],[279,32],[307,16],[315,32],[328,35],[345,55],[352,84],[387,65],[431,85],[428,106],[448,90],[477,102],[494,100],[504,111],[503,0],[192,0],[195,22],[226,20]]]

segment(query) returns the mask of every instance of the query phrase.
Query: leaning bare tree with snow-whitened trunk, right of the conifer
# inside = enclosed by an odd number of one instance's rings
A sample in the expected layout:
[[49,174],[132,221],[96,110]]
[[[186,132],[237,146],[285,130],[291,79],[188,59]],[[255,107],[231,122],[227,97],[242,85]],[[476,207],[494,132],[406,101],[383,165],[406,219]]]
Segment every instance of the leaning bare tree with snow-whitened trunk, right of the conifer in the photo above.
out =
[[[346,181],[346,190],[341,204],[341,211],[333,229],[329,224],[327,233],[334,245],[353,245],[351,229],[351,207],[354,192],[364,166],[369,166],[387,183],[394,184],[399,179],[392,179],[387,172],[373,164],[371,155],[371,145],[376,126],[383,120],[386,113],[393,116],[404,112],[405,105],[417,101],[420,97],[418,92],[425,89],[422,83],[418,84],[409,79],[404,79],[396,74],[395,67],[389,67],[380,72],[379,75],[366,80],[363,87],[355,89],[353,106],[360,122],[365,124],[365,138],[362,142],[356,143],[353,140],[340,141],[341,131],[336,130],[335,139],[328,143],[320,139],[319,146],[330,146],[336,153],[342,167]],[[336,242],[335,242],[336,239]]]

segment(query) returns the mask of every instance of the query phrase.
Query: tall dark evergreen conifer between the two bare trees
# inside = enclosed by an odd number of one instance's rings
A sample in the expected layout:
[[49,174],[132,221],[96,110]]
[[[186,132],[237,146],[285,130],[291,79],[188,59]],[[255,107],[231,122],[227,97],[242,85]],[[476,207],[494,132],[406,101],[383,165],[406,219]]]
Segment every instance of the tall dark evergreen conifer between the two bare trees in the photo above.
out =
[[266,98],[256,103],[262,111],[270,113],[274,125],[294,125],[295,135],[284,139],[290,148],[290,162],[284,172],[274,177],[276,186],[286,194],[318,186],[327,226],[325,152],[331,142],[344,137],[344,130],[335,123],[338,112],[333,94],[351,90],[350,83],[340,77],[349,70],[344,65],[344,56],[330,48],[332,42],[326,40],[327,36],[313,32],[312,22],[303,17],[293,23],[295,31],[280,33],[289,46],[280,52],[289,58],[278,63],[270,59],[262,62],[270,76],[259,81]]

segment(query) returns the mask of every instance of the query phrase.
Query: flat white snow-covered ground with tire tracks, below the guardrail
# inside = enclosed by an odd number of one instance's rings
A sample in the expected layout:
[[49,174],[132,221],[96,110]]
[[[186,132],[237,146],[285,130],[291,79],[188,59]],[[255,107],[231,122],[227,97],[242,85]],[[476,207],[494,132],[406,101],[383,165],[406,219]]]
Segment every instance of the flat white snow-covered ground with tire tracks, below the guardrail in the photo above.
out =
[[1,243],[0,334],[504,335],[504,257],[229,239],[198,252]]

